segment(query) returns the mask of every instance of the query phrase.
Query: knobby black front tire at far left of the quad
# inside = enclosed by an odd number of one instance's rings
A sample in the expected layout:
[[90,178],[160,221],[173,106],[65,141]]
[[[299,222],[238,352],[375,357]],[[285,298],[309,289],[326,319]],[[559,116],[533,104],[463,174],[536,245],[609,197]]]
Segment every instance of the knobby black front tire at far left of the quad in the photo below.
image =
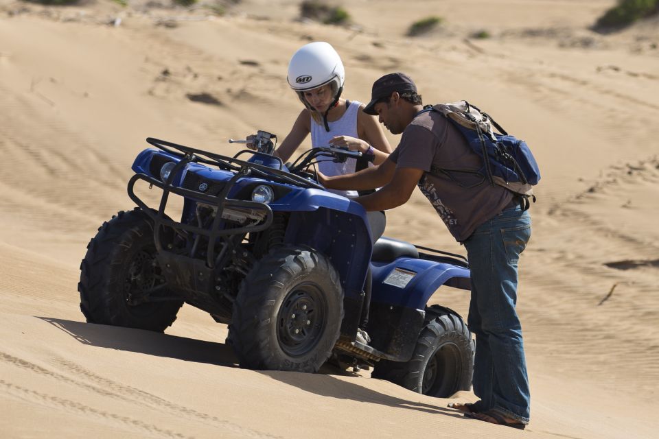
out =
[[[163,283],[155,259],[153,226],[139,209],[105,222],[80,264],[80,309],[89,323],[163,332],[176,320],[183,300],[141,302],[140,294]],[[167,296],[159,289],[159,298]]]

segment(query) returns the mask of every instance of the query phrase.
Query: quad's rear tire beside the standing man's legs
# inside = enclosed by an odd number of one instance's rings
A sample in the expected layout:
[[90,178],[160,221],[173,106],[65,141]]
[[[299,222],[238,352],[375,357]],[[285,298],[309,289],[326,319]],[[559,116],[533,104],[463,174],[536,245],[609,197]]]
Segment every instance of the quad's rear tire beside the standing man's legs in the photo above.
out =
[[433,306],[426,309],[426,327],[419,334],[412,359],[406,363],[378,361],[371,376],[413,392],[446,398],[471,388],[473,346],[462,318],[450,309]]

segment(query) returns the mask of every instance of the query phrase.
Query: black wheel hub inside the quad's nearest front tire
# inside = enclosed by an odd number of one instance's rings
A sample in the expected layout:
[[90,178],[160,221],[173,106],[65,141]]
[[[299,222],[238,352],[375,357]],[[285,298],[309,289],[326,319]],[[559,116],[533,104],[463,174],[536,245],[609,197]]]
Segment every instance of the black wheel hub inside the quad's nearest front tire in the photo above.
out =
[[277,316],[281,350],[292,357],[312,351],[325,330],[326,318],[327,303],[316,285],[305,283],[292,289]]

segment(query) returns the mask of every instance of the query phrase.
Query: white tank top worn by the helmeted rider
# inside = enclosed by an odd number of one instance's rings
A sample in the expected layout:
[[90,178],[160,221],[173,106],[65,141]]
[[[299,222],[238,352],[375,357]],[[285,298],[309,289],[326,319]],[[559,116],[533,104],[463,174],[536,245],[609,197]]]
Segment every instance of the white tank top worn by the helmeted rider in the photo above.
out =
[[[329,132],[325,130],[323,122],[317,123],[314,118],[311,118],[311,145],[312,147],[329,146],[329,139],[335,136],[350,136],[356,137],[357,135],[357,115],[361,102],[350,101],[348,108],[346,108],[343,116],[338,121],[328,122]],[[352,174],[355,171],[357,161],[354,158],[348,158],[345,163],[334,163],[329,157],[325,158],[327,161],[319,163],[318,169],[326,176],[340,176],[343,174]],[[323,158],[321,158],[323,160]],[[355,198],[357,191],[329,191],[338,193],[348,198]]]

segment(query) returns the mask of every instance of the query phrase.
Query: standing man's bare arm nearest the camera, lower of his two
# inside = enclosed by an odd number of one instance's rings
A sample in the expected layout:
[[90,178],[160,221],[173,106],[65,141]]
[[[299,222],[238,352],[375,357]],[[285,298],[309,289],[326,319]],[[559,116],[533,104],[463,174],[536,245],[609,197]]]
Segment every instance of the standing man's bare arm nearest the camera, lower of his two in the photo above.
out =
[[[391,163],[389,160],[385,163],[387,162]],[[384,211],[402,206],[410,199],[414,188],[423,175],[423,169],[413,167],[394,168],[391,180],[382,189],[355,198],[355,201],[362,204],[367,211]]]

